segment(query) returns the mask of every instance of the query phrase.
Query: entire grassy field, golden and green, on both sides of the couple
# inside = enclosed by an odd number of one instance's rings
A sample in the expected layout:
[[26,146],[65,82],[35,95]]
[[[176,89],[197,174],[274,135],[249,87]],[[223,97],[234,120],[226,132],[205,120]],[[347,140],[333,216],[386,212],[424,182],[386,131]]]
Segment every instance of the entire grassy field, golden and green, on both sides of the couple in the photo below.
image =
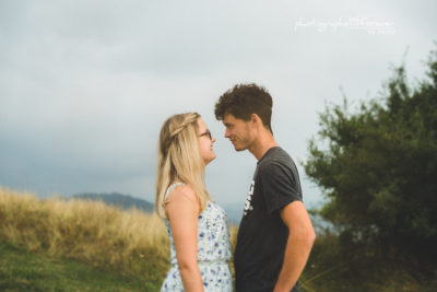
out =
[[[236,233],[231,226],[233,249]],[[341,250],[335,241],[319,234],[303,292],[437,291],[437,277]],[[169,243],[155,215],[0,187],[0,291],[154,292],[168,268]]]

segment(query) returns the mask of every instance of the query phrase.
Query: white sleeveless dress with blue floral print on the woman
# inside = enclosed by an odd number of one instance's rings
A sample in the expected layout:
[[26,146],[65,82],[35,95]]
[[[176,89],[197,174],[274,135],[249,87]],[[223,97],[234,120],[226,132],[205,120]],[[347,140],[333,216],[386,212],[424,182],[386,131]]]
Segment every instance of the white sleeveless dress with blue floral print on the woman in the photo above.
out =
[[[166,196],[181,183],[168,187]],[[161,292],[184,291],[182,281],[176,259],[175,243],[170,224],[164,220],[170,240],[172,268],[164,280]],[[216,203],[209,201],[206,209],[199,214],[198,221],[198,266],[205,292],[233,291],[229,231],[226,223],[226,212]]]

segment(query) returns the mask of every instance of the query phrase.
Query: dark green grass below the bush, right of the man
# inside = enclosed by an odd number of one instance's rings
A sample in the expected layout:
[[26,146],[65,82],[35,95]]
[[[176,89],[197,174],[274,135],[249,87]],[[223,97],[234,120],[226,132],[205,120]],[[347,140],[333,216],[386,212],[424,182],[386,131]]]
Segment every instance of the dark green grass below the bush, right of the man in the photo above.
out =
[[437,271],[421,273],[414,261],[393,261],[366,245],[341,244],[335,232],[321,232],[299,279],[307,292],[435,292]]

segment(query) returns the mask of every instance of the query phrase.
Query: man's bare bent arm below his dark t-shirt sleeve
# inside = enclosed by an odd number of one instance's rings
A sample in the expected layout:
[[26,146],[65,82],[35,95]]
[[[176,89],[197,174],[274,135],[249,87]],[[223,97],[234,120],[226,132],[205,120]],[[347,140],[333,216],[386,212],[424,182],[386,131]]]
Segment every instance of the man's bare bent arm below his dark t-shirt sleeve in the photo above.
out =
[[284,264],[273,292],[290,292],[307,264],[316,233],[302,201],[288,203],[281,210],[280,214],[290,230],[290,235],[285,248]]

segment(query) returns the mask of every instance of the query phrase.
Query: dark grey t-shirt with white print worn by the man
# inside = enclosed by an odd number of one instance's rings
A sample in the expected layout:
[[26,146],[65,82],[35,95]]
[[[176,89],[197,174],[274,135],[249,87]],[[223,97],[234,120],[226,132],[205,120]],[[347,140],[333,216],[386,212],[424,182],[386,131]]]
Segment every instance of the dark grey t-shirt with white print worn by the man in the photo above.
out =
[[[296,165],[283,149],[271,148],[258,161],[238,230],[237,292],[273,291],[288,238],[280,210],[295,200],[302,200]],[[297,285],[292,291],[298,291]]]

